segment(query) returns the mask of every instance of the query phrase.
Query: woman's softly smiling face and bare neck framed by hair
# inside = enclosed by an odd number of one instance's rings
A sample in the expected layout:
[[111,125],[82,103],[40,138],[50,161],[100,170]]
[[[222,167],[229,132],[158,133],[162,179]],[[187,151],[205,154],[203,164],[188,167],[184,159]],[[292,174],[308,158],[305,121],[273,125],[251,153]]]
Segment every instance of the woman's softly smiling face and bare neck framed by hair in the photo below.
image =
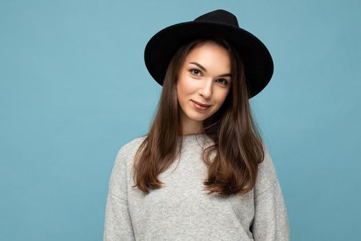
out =
[[[230,73],[228,52],[215,43],[197,45],[188,53],[177,81],[184,135],[202,129],[203,121],[221,107],[230,90]],[[195,102],[209,107],[199,108]]]

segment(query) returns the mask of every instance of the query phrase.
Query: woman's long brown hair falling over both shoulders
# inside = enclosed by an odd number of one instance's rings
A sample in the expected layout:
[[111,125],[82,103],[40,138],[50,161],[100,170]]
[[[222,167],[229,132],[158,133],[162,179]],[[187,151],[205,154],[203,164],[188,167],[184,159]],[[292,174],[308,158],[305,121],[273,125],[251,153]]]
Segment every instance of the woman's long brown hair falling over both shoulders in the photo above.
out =
[[[202,152],[208,166],[208,178],[203,184],[208,194],[224,196],[245,194],[254,187],[258,165],[265,154],[248,102],[249,90],[241,56],[224,39],[208,37],[182,45],[168,64],[157,112],[133,163],[133,187],[138,186],[144,193],[162,187],[164,183],[157,178],[158,175],[173,163],[182,148],[182,138],[179,138],[182,135],[181,107],[176,92],[178,74],[190,50],[206,41],[228,50],[232,85],[223,105],[203,122],[201,131],[215,143]],[[212,151],[217,154],[210,160]]]

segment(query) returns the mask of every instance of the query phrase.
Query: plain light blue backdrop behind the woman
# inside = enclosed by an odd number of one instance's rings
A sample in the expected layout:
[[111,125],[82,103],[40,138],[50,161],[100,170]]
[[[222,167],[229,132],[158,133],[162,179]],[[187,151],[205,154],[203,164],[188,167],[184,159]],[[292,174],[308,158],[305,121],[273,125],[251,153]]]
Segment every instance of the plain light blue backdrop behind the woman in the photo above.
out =
[[155,32],[233,12],[274,75],[251,99],[292,240],[355,240],[360,1],[0,1],[0,239],[102,240],[116,153],[146,134]]

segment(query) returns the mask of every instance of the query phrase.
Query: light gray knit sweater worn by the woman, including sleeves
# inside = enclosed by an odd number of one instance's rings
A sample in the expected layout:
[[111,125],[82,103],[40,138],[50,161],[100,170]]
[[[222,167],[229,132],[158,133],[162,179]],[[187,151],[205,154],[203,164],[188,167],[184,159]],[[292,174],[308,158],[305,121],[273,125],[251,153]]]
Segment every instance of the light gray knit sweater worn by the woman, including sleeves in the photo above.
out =
[[144,138],[129,141],[116,156],[104,240],[289,240],[285,200],[265,147],[254,189],[221,197],[202,190],[207,169],[201,150],[212,140],[204,134],[182,136],[180,157],[159,176],[165,185],[146,195],[131,187],[133,158]]

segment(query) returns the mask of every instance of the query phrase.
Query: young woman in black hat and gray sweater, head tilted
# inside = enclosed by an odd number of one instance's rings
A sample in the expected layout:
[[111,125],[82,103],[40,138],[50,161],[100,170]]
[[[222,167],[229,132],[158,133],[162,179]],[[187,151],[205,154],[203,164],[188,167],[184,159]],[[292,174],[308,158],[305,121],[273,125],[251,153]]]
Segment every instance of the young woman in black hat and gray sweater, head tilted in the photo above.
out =
[[215,10],[155,34],[144,58],[160,104],[149,133],[118,151],[104,240],[289,240],[248,102],[273,73],[265,45]]

